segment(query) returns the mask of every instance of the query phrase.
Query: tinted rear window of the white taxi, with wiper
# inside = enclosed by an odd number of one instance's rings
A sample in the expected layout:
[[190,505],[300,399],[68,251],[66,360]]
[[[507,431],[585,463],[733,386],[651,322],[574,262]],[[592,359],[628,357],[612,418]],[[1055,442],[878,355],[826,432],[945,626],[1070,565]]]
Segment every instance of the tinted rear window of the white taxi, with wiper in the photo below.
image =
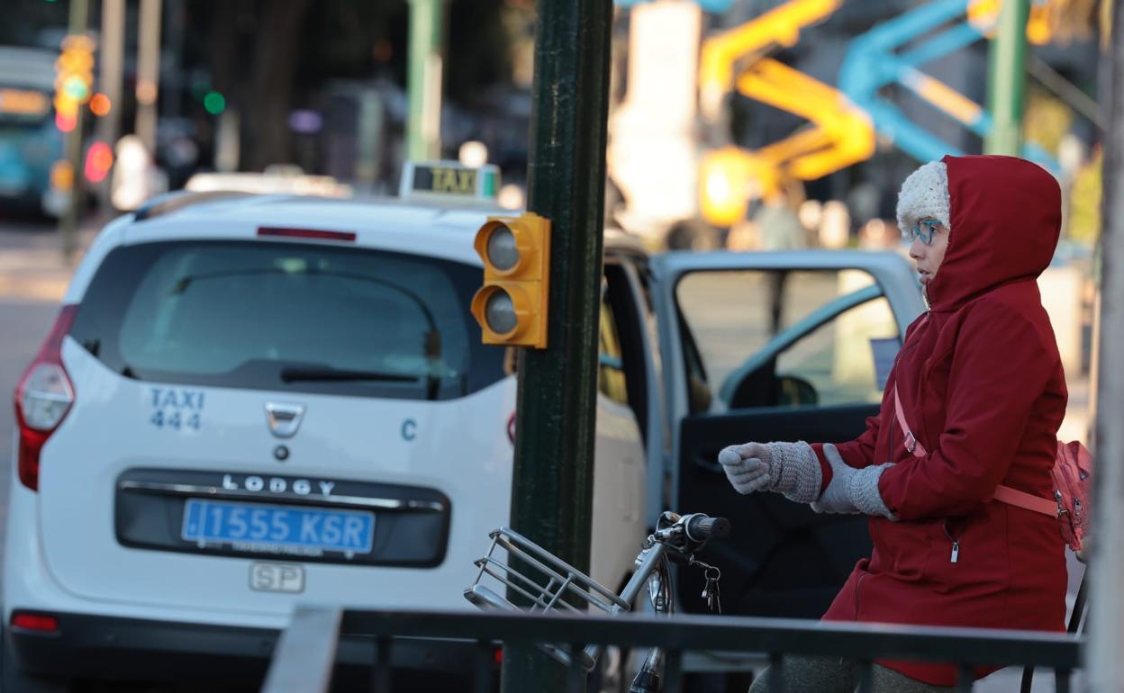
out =
[[448,400],[504,377],[469,313],[480,268],[301,243],[121,246],[71,336],[140,381]]

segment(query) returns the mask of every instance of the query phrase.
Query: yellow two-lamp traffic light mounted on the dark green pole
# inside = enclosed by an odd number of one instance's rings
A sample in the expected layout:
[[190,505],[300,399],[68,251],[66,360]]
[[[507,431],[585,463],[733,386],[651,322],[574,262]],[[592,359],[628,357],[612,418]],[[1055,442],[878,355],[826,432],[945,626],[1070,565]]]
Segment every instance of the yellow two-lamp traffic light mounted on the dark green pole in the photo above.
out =
[[551,220],[489,217],[473,247],[484,261],[484,284],[472,297],[483,343],[546,348]]

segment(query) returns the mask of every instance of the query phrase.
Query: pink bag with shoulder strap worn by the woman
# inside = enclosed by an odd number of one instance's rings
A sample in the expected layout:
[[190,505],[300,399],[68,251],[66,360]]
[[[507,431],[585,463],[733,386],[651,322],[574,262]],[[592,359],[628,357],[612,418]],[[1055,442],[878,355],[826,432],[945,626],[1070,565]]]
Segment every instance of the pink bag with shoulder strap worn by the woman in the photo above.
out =
[[[906,414],[901,410],[901,399],[898,396],[897,385],[894,386],[894,408],[898,426],[905,432],[906,450],[914,457],[924,457],[928,453],[917,441],[913,431],[909,430],[909,425],[906,423]],[[1053,467],[1050,468],[1050,476],[1054,486],[1053,499],[1045,499],[1003,485],[996,487],[992,498],[1000,503],[1008,503],[1058,518],[1061,538],[1069,545],[1069,548],[1073,549],[1073,553],[1078,554],[1078,557],[1084,557],[1081,550],[1085,548],[1085,537],[1093,518],[1093,455],[1077,440],[1071,443],[1059,440],[1058,455],[1054,457]]]

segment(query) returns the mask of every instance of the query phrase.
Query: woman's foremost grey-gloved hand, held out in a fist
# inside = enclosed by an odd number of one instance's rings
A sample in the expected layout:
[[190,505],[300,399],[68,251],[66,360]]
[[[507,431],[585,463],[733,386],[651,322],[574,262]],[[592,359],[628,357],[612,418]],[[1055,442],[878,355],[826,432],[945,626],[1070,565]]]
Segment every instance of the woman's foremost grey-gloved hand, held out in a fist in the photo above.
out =
[[798,503],[819,498],[823,472],[807,443],[745,443],[718,453],[718,463],[742,494],[774,491]]

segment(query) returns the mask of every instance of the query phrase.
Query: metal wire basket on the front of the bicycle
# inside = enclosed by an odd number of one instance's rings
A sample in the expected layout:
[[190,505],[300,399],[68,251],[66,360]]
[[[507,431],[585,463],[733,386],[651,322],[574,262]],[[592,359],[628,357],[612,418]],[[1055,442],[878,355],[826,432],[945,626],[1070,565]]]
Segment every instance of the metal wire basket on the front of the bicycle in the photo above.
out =
[[[472,586],[464,591],[464,598],[477,607],[529,612],[586,613],[596,610],[607,614],[629,610],[628,602],[615,592],[518,532],[501,527],[488,536],[491,547],[474,562],[480,571]],[[508,596],[520,604],[509,601]],[[538,647],[570,665],[568,645],[543,642]],[[587,671],[597,664],[600,649],[600,646],[590,645],[578,653],[578,660]]]

